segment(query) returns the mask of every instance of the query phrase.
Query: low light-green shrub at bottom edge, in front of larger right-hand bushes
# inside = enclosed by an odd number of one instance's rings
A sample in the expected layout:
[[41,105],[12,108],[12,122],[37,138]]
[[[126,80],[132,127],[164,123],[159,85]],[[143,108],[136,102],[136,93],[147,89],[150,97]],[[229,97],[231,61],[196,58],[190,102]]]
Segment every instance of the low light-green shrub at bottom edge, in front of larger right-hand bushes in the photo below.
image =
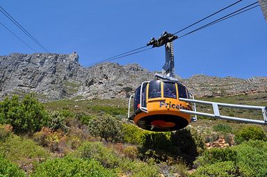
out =
[[218,177],[235,177],[236,169],[234,162],[217,162],[206,167],[200,167],[195,171],[191,177],[209,177],[209,176],[218,176]]

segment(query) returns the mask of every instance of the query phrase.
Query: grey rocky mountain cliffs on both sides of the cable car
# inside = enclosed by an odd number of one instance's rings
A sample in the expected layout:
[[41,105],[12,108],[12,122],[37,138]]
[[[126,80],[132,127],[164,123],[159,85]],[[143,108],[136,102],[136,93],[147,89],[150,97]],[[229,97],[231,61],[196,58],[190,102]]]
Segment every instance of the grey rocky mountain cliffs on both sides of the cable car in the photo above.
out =
[[[81,67],[77,53],[0,56],[0,99],[9,94],[35,92],[42,101],[83,97],[112,99],[133,93],[154,73],[136,64],[102,63]],[[195,96],[225,96],[267,92],[267,77],[218,78],[196,75],[179,79]]]

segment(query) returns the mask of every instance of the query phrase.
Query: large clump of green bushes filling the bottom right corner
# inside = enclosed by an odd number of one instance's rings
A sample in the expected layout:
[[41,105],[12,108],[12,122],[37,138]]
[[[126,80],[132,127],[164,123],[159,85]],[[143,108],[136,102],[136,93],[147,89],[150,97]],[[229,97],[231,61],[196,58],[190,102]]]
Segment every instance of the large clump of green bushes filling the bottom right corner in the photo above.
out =
[[228,149],[211,149],[197,160],[193,176],[267,176],[267,142],[249,140]]

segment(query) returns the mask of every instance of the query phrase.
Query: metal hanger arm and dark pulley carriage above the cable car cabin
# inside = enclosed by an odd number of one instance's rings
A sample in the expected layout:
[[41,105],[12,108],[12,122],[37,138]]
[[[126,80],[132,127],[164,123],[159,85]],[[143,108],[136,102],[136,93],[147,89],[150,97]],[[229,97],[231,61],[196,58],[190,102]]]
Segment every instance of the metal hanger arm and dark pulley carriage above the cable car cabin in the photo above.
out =
[[164,31],[158,40],[152,37],[152,39],[147,43],[147,46],[152,45],[152,47],[161,47],[165,44],[165,64],[162,67],[162,74],[155,74],[156,78],[177,81],[175,78],[175,56],[172,44],[172,41],[177,38],[177,35]]

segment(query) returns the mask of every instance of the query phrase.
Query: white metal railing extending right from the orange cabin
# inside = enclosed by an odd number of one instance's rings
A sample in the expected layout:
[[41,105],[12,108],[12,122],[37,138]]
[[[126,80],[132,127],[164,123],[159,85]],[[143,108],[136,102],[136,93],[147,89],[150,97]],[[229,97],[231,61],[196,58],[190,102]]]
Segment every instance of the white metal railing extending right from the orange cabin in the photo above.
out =
[[[248,105],[236,105],[236,104],[229,104],[229,103],[216,103],[211,101],[201,101],[201,100],[194,100],[194,99],[184,99],[179,98],[181,101],[191,102],[191,103],[200,103],[211,105],[213,107],[213,114],[209,114],[206,112],[197,112],[191,110],[181,110],[180,112],[184,112],[190,115],[202,115],[206,117],[213,117],[217,119],[225,119],[225,120],[233,120],[233,121],[243,121],[246,123],[253,123],[253,124],[264,124],[267,125],[267,107],[264,106],[248,106]],[[257,120],[257,119],[248,119],[248,118],[241,118],[241,117],[230,117],[230,116],[223,116],[220,115],[220,111],[218,106],[228,107],[228,108],[243,108],[248,110],[261,110],[264,120]]]

